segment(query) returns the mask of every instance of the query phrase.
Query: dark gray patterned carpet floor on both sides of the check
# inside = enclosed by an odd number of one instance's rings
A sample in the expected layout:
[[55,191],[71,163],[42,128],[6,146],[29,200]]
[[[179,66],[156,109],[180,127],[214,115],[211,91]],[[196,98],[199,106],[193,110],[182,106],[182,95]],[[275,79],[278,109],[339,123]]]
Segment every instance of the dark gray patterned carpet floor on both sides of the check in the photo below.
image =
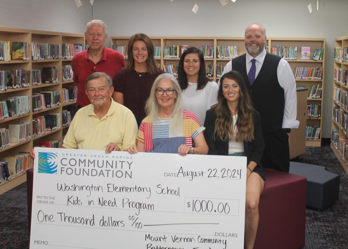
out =
[[[330,144],[307,147],[298,162],[325,166],[327,171],[341,176],[338,201],[325,210],[307,208],[304,249],[347,249],[348,175]],[[0,214],[0,248],[29,248],[26,183],[0,195]]]

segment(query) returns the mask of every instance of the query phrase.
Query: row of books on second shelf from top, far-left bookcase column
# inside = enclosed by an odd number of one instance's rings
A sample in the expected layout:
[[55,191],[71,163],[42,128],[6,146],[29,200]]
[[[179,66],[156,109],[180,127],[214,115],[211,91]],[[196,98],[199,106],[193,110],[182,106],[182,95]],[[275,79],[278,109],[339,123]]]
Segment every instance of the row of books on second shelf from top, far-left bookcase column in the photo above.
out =
[[30,70],[9,69],[0,71],[0,90],[30,86]]

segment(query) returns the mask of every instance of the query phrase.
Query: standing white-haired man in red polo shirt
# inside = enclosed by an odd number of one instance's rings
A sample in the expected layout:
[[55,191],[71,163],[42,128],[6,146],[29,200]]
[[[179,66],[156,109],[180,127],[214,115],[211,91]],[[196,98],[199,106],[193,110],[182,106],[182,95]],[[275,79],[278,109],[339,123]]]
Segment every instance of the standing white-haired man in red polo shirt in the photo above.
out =
[[92,20],[87,23],[85,38],[89,48],[72,58],[73,80],[77,83],[77,105],[79,108],[90,104],[85,93],[85,84],[89,75],[95,72],[104,72],[111,79],[123,67],[125,59],[123,55],[104,47],[108,38],[108,29],[101,20]]

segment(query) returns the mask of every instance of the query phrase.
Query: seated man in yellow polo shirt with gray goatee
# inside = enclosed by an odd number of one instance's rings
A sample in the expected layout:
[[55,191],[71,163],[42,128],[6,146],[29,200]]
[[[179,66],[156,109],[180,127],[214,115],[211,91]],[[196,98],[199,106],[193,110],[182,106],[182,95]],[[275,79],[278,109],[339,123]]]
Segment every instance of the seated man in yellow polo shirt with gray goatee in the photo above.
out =
[[86,80],[90,105],[73,118],[63,141],[64,148],[86,150],[126,150],[135,145],[138,126],[133,113],[111,98],[112,79],[105,73],[93,73]]

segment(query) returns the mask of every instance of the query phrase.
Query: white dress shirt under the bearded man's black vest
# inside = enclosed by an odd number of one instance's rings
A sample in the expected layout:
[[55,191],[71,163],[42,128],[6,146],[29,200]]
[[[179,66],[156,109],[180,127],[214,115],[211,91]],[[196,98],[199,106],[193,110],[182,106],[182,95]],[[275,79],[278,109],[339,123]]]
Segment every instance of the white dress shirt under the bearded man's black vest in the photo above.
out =
[[[256,79],[256,77],[258,76],[261,70],[266,54],[267,54],[266,50],[263,50],[261,54],[259,54],[258,56],[254,58],[250,54],[246,53],[246,73],[248,74],[251,68],[251,65],[252,65],[251,60],[256,59],[256,62],[255,62],[255,66],[256,66],[255,79]],[[222,75],[224,75],[227,72],[230,72],[231,70],[232,70],[232,62],[229,61],[227,65],[225,66],[222,72]],[[294,73],[292,72],[289,63],[285,61],[285,59],[283,58],[280,59],[278,64],[277,77],[278,77],[278,82],[280,87],[284,89],[285,105],[284,105],[282,128],[298,128],[300,122],[296,120],[296,115],[297,115],[296,81],[295,81]],[[220,87],[220,80],[217,83],[217,85]]]

